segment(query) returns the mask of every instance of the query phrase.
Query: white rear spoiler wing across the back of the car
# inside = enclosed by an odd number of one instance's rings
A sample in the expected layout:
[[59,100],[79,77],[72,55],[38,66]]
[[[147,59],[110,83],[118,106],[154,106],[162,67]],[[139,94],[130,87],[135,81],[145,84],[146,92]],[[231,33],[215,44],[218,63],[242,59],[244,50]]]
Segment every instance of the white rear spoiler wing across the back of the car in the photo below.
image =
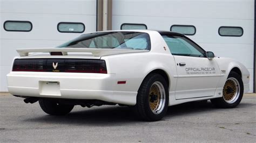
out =
[[37,52],[62,52],[63,55],[68,55],[69,52],[91,53],[93,56],[116,55],[125,53],[149,52],[145,49],[101,49],[101,48],[30,48],[17,49],[19,56],[28,56],[29,53]]

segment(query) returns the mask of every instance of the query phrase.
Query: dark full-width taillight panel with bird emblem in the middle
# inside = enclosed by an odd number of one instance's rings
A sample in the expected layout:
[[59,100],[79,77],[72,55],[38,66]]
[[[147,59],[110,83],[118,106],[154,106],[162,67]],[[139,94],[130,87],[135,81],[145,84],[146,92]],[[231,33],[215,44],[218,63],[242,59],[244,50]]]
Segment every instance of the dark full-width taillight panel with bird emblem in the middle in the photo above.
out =
[[105,61],[92,59],[16,59],[12,71],[107,74]]

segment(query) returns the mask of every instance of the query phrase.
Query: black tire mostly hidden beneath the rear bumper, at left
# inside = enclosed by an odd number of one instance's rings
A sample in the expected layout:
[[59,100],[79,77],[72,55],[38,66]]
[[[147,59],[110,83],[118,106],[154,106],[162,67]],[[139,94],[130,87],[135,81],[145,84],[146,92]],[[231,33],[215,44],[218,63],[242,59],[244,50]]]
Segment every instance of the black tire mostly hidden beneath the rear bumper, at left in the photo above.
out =
[[39,99],[39,105],[45,113],[57,116],[66,115],[74,108],[74,105],[58,104],[48,99]]

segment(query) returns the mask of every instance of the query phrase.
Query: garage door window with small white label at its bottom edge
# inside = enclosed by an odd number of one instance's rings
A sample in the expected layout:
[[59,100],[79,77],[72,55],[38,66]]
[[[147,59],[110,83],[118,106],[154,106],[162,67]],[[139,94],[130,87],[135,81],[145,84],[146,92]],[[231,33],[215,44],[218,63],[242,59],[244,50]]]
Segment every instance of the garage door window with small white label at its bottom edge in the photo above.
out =
[[63,33],[83,33],[85,26],[83,23],[67,23],[62,22],[58,24],[58,31]]

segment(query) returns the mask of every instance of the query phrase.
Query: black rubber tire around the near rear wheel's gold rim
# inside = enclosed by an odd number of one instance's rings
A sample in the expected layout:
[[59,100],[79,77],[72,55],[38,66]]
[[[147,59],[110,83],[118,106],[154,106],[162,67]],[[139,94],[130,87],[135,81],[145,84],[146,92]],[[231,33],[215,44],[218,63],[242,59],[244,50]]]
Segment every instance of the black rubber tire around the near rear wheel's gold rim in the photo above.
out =
[[[153,92],[151,92],[151,95],[150,95],[151,87],[153,84],[154,84],[154,86],[156,86],[157,85],[156,83],[159,85],[163,85],[164,89],[161,88],[162,89],[161,94],[152,95]],[[150,107],[150,99],[152,98],[152,96],[154,96],[154,98],[158,98],[159,95],[162,95],[163,91],[165,92],[165,101],[160,102],[161,101],[161,99],[160,99],[159,106],[158,106],[159,112],[157,112],[158,110],[152,111],[151,107]],[[156,100],[156,99],[154,99],[154,100]],[[160,103],[162,103],[162,104],[160,104]],[[160,120],[161,118],[164,117],[165,113],[167,112],[168,104],[169,104],[169,89],[168,89],[167,83],[165,81],[165,78],[159,74],[147,75],[138,90],[137,103],[135,106],[133,106],[133,110],[136,113],[137,117],[140,120],[145,120],[145,121]],[[151,101],[151,105],[152,105],[152,101]],[[158,108],[156,107],[156,109],[158,109]]]

